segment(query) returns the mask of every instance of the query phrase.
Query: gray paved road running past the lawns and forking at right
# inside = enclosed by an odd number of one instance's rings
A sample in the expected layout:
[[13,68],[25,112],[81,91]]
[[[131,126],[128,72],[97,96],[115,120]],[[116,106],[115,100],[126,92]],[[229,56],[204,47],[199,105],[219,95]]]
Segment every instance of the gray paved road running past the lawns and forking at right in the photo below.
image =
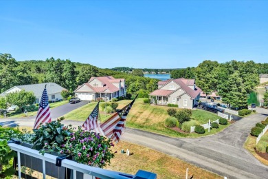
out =
[[[144,145],[170,156],[175,156],[203,169],[227,178],[268,178],[268,167],[260,163],[243,148],[250,129],[268,116],[268,110],[257,108],[253,114],[227,127],[227,129],[202,138],[170,138],[138,129],[126,129],[122,140]],[[0,119],[0,125],[8,125]],[[82,122],[63,120],[66,125]],[[26,125],[25,119],[9,121],[9,125]],[[32,126],[33,121],[27,125]]]

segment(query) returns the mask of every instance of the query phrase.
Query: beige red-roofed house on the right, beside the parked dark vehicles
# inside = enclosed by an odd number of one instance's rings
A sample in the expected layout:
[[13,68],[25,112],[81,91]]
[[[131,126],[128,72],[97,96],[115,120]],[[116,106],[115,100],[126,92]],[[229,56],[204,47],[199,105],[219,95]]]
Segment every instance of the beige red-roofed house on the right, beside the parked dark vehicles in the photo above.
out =
[[[167,81],[159,81],[158,89],[149,94],[157,100],[157,105],[175,104],[181,108],[192,109],[198,104],[200,92],[194,79],[177,78]],[[153,101],[155,103],[155,101]]]

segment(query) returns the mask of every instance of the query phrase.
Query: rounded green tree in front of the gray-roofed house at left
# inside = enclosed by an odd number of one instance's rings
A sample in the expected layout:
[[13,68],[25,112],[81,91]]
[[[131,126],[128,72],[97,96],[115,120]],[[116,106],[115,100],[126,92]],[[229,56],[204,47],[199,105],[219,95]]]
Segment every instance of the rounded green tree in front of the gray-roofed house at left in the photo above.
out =
[[17,105],[19,108],[22,108],[24,105],[32,105],[36,100],[34,92],[25,92],[24,89],[20,92],[9,93],[5,97],[8,103]]

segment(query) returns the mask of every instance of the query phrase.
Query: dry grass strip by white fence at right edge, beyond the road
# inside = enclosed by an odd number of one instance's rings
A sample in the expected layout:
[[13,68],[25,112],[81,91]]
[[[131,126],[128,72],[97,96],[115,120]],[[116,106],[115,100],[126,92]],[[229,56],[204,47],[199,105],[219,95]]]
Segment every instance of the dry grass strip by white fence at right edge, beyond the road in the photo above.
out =
[[[266,132],[265,136],[268,136],[268,132]],[[260,139],[262,140],[262,139]],[[260,141],[258,142],[258,144]],[[255,148],[256,148],[256,137],[249,136],[247,137],[247,140],[244,144],[244,148],[247,149],[254,157],[256,157],[260,162],[263,162],[263,164],[268,165],[268,160],[265,160],[264,158],[261,158],[258,154],[256,154]]]

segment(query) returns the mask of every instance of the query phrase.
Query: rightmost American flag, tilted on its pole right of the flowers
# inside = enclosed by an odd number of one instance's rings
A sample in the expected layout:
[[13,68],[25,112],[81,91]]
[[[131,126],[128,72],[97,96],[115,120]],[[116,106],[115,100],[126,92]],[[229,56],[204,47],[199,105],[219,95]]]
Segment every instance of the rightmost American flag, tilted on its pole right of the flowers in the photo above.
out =
[[[135,99],[137,96],[135,97]],[[123,109],[121,109],[119,112],[116,112],[109,118],[105,123],[100,125],[100,128],[102,129],[103,136],[107,136],[107,138],[111,138],[115,143],[118,143],[120,140],[120,137],[122,135],[122,132],[126,128],[126,116],[129,114],[129,110],[133,106],[133,103],[135,102],[135,99],[129,103],[129,105],[126,105]]]

